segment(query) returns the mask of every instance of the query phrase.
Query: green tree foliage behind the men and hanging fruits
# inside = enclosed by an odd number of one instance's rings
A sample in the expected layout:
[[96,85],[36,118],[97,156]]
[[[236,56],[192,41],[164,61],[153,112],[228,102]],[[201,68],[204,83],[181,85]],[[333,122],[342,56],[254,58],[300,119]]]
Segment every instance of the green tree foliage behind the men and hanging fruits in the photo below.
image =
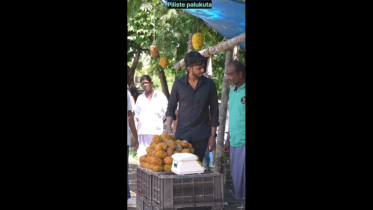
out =
[[[226,39],[206,23],[188,12],[181,9],[167,9],[166,5],[160,5],[154,1],[127,0],[128,23],[127,23],[127,62],[131,62],[134,53],[140,49],[142,53],[150,56],[150,45],[154,39],[155,22],[155,44],[159,47],[160,57],[167,57],[169,64],[164,71],[169,89],[173,80],[185,75],[185,67],[173,69],[173,64],[184,58],[188,52],[189,33],[198,32],[204,35],[203,49],[213,46]],[[164,50],[164,52],[163,52]],[[225,67],[225,52],[215,55],[216,60],[212,61],[213,80],[218,91],[218,98],[221,98],[223,84],[223,70]],[[245,64],[245,52],[239,54],[240,61]],[[139,65],[141,61],[139,61]],[[158,76],[156,65],[159,59],[151,59],[149,75]],[[172,78],[169,78],[172,77]]]

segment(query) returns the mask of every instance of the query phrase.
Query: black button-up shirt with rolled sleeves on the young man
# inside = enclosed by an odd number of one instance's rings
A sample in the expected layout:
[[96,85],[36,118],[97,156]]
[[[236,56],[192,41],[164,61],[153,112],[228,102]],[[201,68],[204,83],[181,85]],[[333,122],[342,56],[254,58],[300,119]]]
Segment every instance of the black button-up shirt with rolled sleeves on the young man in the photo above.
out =
[[219,126],[219,104],[213,80],[202,76],[193,90],[188,82],[188,74],[173,83],[166,117],[176,120],[175,110],[179,102],[175,138],[194,142],[208,138],[211,135],[211,127]]

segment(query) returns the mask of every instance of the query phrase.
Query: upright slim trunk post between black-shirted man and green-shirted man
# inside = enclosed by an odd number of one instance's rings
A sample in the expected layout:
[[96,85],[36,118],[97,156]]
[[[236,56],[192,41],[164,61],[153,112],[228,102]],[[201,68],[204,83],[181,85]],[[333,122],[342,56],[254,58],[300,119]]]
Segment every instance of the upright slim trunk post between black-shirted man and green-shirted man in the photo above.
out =
[[[225,55],[225,69],[228,64],[232,61],[233,49],[226,50]],[[222,90],[222,101],[220,103],[219,109],[219,131],[217,135],[217,145],[216,145],[216,157],[215,157],[215,171],[219,173],[222,172],[222,159],[223,159],[223,146],[224,146],[224,133],[225,133],[225,120],[227,118],[227,106],[229,99],[229,83],[227,81],[227,76],[224,74],[223,77],[223,90]]]

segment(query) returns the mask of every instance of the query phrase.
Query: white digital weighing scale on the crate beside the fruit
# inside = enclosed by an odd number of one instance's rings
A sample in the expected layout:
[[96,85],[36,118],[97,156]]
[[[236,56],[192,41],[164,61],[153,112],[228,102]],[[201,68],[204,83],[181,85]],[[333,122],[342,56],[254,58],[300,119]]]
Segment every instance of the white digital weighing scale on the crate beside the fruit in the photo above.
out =
[[175,153],[171,171],[177,175],[204,173],[205,169],[197,162],[197,155],[191,153]]

